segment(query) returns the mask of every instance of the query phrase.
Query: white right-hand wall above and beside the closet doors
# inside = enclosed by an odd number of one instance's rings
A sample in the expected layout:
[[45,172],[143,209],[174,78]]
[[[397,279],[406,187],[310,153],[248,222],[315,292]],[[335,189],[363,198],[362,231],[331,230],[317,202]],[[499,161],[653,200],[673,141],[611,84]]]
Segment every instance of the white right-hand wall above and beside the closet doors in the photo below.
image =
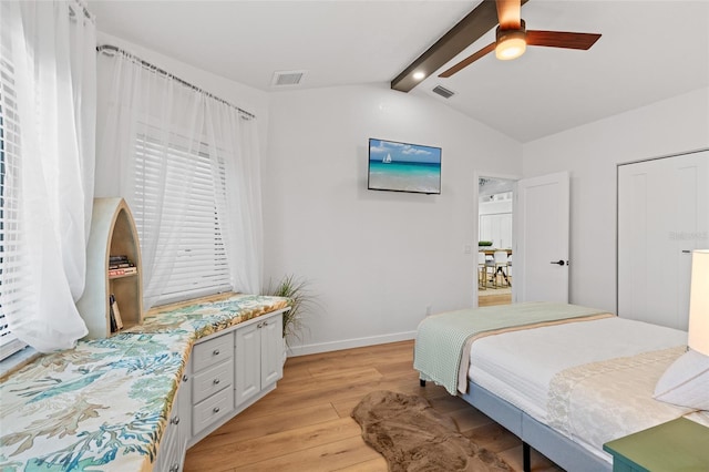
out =
[[523,146],[523,175],[571,172],[573,304],[616,310],[616,166],[709,147],[709,89]]

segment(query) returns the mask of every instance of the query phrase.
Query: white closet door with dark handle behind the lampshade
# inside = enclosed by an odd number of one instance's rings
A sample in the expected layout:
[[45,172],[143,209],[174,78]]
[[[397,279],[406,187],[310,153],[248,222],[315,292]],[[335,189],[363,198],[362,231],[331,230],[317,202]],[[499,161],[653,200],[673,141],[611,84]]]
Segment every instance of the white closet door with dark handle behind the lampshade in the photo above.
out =
[[708,187],[709,151],[618,166],[618,316],[687,330]]

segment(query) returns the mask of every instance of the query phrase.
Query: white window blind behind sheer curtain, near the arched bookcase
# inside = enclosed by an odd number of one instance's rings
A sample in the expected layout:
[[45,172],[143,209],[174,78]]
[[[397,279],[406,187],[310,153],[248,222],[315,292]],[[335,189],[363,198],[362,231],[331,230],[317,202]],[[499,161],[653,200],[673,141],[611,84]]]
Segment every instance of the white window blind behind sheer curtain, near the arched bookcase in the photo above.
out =
[[[224,202],[226,195],[224,162],[213,170],[206,144],[188,146],[187,140],[174,134],[171,141],[164,144],[147,135],[136,138],[133,213],[141,244],[148,237],[145,223],[158,217],[176,223],[179,235],[175,254],[156,259],[153,277],[167,277],[156,305],[232,289],[223,225],[216,213],[217,198]],[[187,207],[178,208],[183,199],[177,196],[185,192],[185,186],[188,186]],[[157,215],[161,198],[163,212]],[[183,213],[184,219],[178,222]],[[174,236],[161,235],[161,239]]]

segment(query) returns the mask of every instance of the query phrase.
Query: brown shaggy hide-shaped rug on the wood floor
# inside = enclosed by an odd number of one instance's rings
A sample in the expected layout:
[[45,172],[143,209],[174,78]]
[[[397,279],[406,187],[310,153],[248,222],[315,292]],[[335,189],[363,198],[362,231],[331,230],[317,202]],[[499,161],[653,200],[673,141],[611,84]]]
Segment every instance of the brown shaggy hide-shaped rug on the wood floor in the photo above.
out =
[[512,471],[421,397],[371,392],[354,407],[352,418],[362,428],[364,442],[387,459],[391,472]]

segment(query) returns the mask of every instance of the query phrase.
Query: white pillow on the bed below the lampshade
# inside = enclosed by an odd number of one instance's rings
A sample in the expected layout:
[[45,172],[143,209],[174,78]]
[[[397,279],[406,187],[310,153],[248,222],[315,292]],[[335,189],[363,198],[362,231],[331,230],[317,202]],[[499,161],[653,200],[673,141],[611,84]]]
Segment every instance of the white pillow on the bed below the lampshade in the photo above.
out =
[[709,356],[689,350],[667,368],[655,386],[656,400],[709,410]]

